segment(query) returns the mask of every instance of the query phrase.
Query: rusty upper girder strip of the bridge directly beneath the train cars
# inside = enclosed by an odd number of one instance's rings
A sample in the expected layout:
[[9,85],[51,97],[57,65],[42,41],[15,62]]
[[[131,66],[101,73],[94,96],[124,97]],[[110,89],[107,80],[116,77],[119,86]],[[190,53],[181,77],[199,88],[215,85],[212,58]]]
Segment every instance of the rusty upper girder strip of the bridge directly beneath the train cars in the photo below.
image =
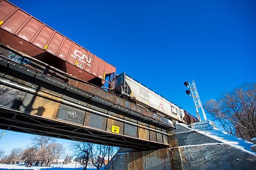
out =
[[[5,49],[5,46],[0,46],[0,55],[9,56],[10,52],[14,52],[15,50],[11,49],[10,47]],[[32,68],[33,70],[40,72],[42,74],[45,74],[49,76],[50,78],[55,78],[65,84],[65,86],[73,86],[73,88],[78,88],[80,90],[84,90],[87,93],[91,93],[91,95],[95,96],[95,98],[101,98],[102,100],[106,100],[115,107],[120,108],[126,112],[132,112],[134,114],[138,114],[141,117],[144,117],[145,119],[151,120],[152,122],[155,122],[157,124],[160,124],[164,127],[174,127],[173,125],[166,124],[166,121],[164,117],[161,117],[158,114],[155,114],[151,111],[148,111],[147,109],[138,106],[134,103],[131,103],[129,101],[126,101],[122,98],[118,98],[118,96],[113,95],[110,92],[107,92],[103,89],[100,89],[98,86],[95,86],[93,84],[90,84],[88,82],[81,81],[79,79],[75,79],[74,77],[70,76],[66,72],[63,72],[61,70],[58,70],[46,63],[40,62],[34,58],[31,58],[25,54],[16,54],[17,56],[21,56],[23,59],[28,60],[30,63],[21,62],[21,64],[26,65],[26,67]],[[14,59],[13,59],[14,58]],[[17,60],[19,57],[12,57],[12,60]],[[19,58],[20,60],[20,58]],[[23,61],[23,60],[21,60]],[[20,62],[20,61],[19,61]],[[78,90],[79,91],[79,90]]]

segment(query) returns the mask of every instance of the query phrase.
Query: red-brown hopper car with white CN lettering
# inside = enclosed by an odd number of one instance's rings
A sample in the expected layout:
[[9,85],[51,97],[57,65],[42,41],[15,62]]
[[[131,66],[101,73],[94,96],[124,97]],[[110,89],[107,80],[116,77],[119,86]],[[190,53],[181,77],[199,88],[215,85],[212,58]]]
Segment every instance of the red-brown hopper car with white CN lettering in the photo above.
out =
[[116,68],[8,1],[0,1],[0,43],[101,86]]

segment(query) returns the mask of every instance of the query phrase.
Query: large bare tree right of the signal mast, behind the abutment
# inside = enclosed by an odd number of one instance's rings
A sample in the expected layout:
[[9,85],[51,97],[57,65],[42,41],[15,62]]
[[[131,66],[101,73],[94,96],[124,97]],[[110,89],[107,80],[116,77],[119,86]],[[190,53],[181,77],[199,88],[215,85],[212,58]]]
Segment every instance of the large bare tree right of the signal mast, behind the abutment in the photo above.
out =
[[255,87],[256,84],[245,84],[223,93],[221,98],[206,102],[204,108],[227,133],[250,140],[256,136]]

